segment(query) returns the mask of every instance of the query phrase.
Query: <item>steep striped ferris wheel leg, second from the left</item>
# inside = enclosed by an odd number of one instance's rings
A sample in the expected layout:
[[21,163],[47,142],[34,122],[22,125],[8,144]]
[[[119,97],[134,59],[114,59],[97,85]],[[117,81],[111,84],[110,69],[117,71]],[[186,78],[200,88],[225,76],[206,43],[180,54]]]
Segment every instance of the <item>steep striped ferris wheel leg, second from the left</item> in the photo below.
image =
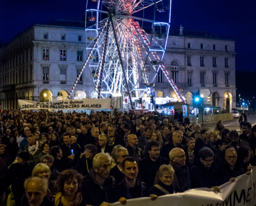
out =
[[101,53],[101,57],[100,57],[100,68],[99,68],[99,73],[100,74],[99,74],[99,77],[97,78],[97,84],[96,84],[96,87],[95,87],[95,90],[98,89],[98,99],[100,98],[101,83],[102,83],[105,59],[106,59],[106,54],[107,54],[107,44],[108,44],[108,38],[109,38],[109,27],[110,27],[110,23],[108,22],[107,30],[106,30],[106,33],[105,33],[105,39],[104,39],[104,42],[103,42],[102,53]]

